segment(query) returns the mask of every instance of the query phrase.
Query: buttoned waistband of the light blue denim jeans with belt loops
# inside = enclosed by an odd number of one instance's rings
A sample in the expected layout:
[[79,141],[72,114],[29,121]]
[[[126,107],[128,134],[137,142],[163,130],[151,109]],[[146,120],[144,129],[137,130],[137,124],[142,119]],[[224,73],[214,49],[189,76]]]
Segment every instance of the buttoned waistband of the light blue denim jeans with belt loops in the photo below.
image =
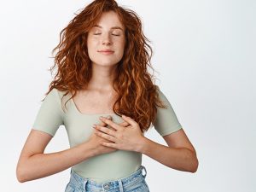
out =
[[[145,172],[144,174],[143,170]],[[89,188],[90,190],[103,189],[103,191],[119,188],[119,190],[122,192],[124,191],[124,188],[129,188],[137,183],[142,183],[143,179],[147,176],[147,170],[145,166],[140,166],[136,172],[131,173],[131,175],[127,177],[102,183],[90,180],[90,178],[82,177],[78,173],[74,172],[72,168],[70,174],[70,182],[76,186],[79,186],[79,188],[84,189],[84,191],[86,191],[85,189]]]

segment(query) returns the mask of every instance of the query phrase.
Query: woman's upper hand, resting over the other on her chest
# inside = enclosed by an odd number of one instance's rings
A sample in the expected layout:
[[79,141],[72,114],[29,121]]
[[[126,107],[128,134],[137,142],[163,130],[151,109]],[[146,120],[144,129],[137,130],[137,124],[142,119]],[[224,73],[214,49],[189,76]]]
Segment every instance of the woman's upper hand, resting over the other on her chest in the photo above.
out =
[[100,118],[102,122],[111,126],[113,129],[101,125],[95,125],[96,135],[103,137],[112,143],[102,143],[102,145],[117,148],[119,150],[139,151],[140,145],[145,138],[137,122],[130,117],[122,115],[122,119],[129,124],[129,126],[122,126],[114,123],[107,118]]

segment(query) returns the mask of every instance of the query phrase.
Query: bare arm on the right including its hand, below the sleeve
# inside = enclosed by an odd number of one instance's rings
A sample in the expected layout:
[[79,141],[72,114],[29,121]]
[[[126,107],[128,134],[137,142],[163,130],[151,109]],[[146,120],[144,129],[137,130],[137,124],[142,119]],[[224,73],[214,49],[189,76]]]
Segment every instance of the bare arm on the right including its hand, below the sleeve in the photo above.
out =
[[168,144],[167,147],[144,137],[137,122],[130,117],[122,115],[122,118],[129,124],[128,126],[117,125],[111,119],[101,118],[102,122],[110,125],[115,131],[101,125],[95,126],[98,136],[113,142],[102,142],[102,145],[146,154],[161,164],[179,171],[197,171],[199,164],[195,148],[183,129],[163,137]]

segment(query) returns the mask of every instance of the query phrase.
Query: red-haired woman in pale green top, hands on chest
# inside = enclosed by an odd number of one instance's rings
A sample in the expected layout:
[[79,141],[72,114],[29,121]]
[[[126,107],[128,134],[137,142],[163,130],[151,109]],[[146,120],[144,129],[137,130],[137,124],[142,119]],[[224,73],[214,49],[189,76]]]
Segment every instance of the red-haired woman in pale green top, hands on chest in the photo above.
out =
[[[142,154],[196,172],[195,148],[147,71],[152,49],[138,16],[96,0],[61,34],[58,71],[21,151],[18,180],[72,167],[65,191],[149,191]],[[44,154],[60,125],[70,148]],[[151,125],[169,147],[144,137]]]

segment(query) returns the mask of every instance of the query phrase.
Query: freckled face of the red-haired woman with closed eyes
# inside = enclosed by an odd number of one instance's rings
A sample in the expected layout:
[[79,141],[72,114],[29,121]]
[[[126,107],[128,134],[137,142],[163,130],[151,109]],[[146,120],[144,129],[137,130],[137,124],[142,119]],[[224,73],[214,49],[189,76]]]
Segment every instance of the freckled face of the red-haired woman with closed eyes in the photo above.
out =
[[124,55],[125,28],[113,11],[102,14],[88,33],[87,47],[93,64],[113,66]]

